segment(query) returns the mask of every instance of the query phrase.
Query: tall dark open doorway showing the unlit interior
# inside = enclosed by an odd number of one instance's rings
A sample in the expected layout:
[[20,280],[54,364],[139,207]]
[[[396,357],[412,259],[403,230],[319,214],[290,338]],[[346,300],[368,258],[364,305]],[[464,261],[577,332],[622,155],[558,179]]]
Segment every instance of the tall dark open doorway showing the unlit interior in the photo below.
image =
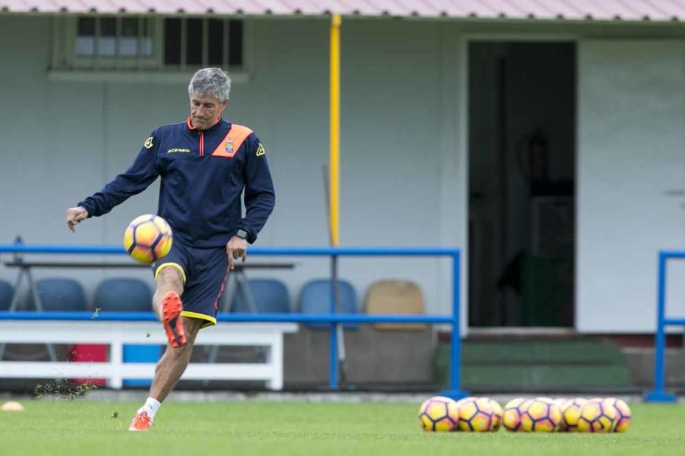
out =
[[573,327],[575,44],[469,43],[469,325]]

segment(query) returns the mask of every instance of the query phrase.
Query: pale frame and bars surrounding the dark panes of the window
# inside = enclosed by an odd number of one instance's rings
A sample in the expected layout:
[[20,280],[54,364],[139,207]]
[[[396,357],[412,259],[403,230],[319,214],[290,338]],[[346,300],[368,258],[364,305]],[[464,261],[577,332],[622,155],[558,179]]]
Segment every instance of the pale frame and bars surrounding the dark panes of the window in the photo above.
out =
[[[185,44],[181,42],[181,64],[164,64],[164,19],[179,18],[184,21],[182,28],[186,27],[186,20],[190,16],[142,16],[142,19],[149,21],[148,27],[151,30],[152,53],[149,56],[138,56],[136,58],[116,58],[79,56],[76,55],[76,38],[78,18],[82,16],[55,16],[52,21],[52,53],[51,65],[48,70],[50,79],[59,81],[113,81],[113,82],[176,82],[188,81],[197,69],[208,66],[208,27],[207,21],[210,16],[201,17],[203,19],[203,64],[186,66],[185,64]],[[122,15],[101,14],[92,17],[117,17]],[[212,17],[214,18],[214,17]],[[223,18],[228,22],[232,19],[242,21],[242,65],[230,66],[223,65],[229,71],[234,82],[244,82],[249,79],[250,68],[252,68],[253,55],[253,21],[244,18]],[[121,24],[121,23],[118,23]],[[227,28],[225,28],[225,42],[223,60],[228,60],[227,49]],[[139,35],[142,36],[139,31]],[[95,42],[97,49],[97,38]]]

